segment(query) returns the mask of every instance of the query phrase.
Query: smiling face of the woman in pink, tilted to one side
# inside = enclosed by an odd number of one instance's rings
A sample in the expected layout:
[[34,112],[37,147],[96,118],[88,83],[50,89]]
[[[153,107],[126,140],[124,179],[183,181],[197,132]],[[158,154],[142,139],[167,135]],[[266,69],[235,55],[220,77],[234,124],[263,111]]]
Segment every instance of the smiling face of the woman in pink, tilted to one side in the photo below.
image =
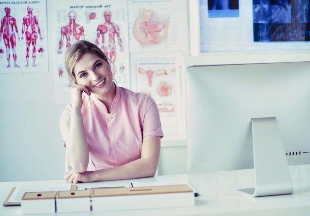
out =
[[87,87],[95,95],[114,92],[113,74],[110,66],[97,55],[85,54],[74,67],[78,85]]

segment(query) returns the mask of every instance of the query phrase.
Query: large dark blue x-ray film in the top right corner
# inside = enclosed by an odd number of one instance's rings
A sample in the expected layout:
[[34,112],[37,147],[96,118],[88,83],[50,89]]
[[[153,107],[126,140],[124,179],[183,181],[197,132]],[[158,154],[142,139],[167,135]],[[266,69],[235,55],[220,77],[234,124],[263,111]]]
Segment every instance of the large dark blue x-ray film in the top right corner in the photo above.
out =
[[253,0],[254,41],[310,40],[309,0]]

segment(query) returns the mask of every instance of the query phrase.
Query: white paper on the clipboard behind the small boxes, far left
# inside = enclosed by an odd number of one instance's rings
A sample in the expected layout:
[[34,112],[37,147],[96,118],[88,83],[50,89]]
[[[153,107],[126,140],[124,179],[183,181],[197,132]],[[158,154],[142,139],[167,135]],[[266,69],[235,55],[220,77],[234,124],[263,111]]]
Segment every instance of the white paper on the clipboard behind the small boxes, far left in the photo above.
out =
[[70,189],[71,189],[71,184],[16,187],[7,202],[8,203],[20,203],[25,192],[47,192],[47,191],[61,191],[61,190],[70,190]]

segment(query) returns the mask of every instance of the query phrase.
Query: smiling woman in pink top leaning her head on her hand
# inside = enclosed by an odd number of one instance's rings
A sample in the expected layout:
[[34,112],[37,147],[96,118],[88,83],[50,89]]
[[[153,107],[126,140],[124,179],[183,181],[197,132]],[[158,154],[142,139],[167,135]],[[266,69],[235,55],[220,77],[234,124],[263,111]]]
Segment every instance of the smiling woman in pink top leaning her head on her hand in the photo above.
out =
[[163,133],[155,101],[118,87],[109,62],[85,40],[65,54],[73,87],[60,130],[70,183],[152,177],[157,169]]

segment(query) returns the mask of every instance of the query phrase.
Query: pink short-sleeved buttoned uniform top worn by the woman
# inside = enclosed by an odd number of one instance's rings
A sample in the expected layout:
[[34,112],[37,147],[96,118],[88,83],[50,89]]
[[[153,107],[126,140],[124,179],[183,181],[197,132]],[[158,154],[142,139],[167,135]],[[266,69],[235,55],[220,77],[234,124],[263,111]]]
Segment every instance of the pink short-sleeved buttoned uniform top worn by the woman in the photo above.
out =
[[[143,93],[116,87],[111,113],[93,95],[83,96],[82,117],[89,148],[88,171],[127,164],[141,158],[142,138],[163,137],[155,101]],[[60,117],[60,131],[69,138],[71,104]]]

